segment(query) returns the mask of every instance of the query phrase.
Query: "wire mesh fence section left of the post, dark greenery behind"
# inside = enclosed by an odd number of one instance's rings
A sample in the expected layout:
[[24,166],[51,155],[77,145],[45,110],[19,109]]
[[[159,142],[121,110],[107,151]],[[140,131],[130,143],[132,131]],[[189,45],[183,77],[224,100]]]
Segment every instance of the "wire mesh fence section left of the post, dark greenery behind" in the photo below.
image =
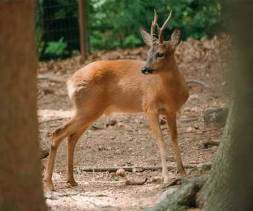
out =
[[79,50],[78,1],[38,0],[36,38],[41,59],[64,58]]

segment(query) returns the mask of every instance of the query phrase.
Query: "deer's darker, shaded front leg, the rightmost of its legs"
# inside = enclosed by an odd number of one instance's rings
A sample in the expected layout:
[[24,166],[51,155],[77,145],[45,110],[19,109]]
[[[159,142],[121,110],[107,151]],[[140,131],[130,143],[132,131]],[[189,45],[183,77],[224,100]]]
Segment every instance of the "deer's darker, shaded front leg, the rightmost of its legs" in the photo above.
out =
[[181,153],[177,142],[177,116],[176,114],[166,115],[167,123],[171,133],[172,148],[175,154],[177,170],[181,176],[185,176],[185,169],[181,159]]

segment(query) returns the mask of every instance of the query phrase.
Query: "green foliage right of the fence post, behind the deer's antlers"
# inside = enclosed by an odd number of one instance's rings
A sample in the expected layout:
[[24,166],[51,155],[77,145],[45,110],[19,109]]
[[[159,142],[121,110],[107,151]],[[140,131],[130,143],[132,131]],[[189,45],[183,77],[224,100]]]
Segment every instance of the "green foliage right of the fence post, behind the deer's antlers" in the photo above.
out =
[[149,31],[154,9],[159,14],[160,25],[173,10],[167,38],[174,28],[183,31],[184,39],[212,36],[221,22],[219,0],[90,0],[92,49],[141,45],[139,29],[144,27]]

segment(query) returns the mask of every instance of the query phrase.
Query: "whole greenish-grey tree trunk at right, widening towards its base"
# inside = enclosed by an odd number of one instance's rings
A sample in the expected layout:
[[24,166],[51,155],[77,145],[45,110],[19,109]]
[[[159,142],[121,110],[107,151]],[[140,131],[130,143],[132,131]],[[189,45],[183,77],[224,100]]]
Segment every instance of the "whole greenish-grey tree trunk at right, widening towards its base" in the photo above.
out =
[[200,194],[204,210],[253,210],[253,2],[233,1],[231,9],[234,102],[211,176]]

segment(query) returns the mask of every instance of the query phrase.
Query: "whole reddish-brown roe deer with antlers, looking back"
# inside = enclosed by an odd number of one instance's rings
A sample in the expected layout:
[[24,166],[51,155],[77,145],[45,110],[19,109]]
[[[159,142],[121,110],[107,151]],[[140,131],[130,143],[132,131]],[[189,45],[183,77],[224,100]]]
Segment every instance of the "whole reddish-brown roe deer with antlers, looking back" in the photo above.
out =
[[[56,151],[68,137],[67,182],[77,183],[73,176],[73,154],[82,133],[102,114],[112,112],[144,112],[157,141],[164,182],[168,182],[166,146],[159,125],[159,114],[166,116],[171,132],[172,147],[178,172],[185,175],[177,142],[176,116],[189,96],[184,77],[178,71],[174,52],[181,39],[175,29],[169,41],[163,40],[163,31],[169,17],[160,28],[157,14],[151,24],[151,33],[141,30],[144,42],[150,47],[146,62],[138,60],[97,61],[81,68],[68,80],[69,98],[74,114],[70,121],[52,134],[45,184],[53,190],[52,173]],[[158,37],[155,35],[158,31]]]

